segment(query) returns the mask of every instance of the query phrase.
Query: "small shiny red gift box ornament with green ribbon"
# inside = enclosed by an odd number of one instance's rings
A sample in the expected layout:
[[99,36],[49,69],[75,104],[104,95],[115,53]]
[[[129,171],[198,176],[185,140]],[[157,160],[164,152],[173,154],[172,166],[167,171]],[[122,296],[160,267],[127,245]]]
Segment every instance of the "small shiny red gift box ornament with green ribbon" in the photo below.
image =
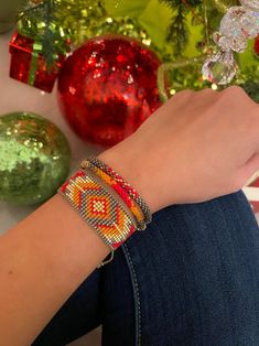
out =
[[51,93],[66,56],[58,55],[55,65],[47,68],[42,53],[35,51],[34,40],[22,36],[18,32],[13,34],[9,48],[10,77]]

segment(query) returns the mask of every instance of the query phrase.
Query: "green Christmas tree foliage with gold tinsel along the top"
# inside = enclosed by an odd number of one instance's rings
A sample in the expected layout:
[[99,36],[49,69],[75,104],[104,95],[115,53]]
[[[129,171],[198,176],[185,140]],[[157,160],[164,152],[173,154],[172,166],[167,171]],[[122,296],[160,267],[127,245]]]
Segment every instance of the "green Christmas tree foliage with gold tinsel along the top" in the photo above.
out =
[[[169,72],[170,79],[169,90],[164,90],[164,80],[160,79],[163,97],[168,91],[172,95],[183,88],[199,89],[209,85],[201,78],[201,66],[205,56],[215,50],[213,33],[218,31],[223,15],[235,6],[240,6],[239,1],[34,0],[19,11],[18,31],[37,43],[36,52],[43,54],[50,68],[61,54],[74,51],[88,39],[107,33],[134,37],[168,64],[161,67]],[[259,39],[248,36],[249,45],[237,57],[239,68],[233,83],[241,85],[258,100]]]

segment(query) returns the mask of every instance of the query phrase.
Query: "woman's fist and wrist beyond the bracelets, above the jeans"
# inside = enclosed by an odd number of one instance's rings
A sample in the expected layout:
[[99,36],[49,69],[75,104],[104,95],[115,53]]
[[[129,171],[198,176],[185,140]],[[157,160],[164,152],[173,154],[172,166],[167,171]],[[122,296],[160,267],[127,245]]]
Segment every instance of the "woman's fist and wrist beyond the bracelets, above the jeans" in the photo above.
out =
[[182,91],[99,155],[157,212],[244,187],[259,169],[259,105],[238,87]]

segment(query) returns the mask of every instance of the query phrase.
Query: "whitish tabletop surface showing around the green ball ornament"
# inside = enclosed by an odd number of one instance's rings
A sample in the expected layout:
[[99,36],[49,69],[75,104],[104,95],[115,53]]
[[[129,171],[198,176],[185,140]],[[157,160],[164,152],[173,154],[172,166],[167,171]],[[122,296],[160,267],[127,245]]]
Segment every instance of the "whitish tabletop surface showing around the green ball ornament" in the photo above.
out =
[[[11,111],[33,111],[55,122],[71,143],[72,170],[74,170],[84,156],[99,152],[100,149],[83,142],[72,132],[57,108],[55,90],[52,94],[44,94],[9,77],[10,36],[11,34],[0,35],[0,116]],[[34,208],[0,202],[0,233],[11,228]]]

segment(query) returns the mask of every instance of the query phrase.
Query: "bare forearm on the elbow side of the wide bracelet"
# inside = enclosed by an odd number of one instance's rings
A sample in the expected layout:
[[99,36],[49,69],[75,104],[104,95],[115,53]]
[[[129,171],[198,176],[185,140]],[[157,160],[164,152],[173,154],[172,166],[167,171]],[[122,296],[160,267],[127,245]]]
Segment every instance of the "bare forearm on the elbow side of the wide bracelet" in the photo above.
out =
[[108,253],[58,195],[2,236],[0,345],[30,345]]

